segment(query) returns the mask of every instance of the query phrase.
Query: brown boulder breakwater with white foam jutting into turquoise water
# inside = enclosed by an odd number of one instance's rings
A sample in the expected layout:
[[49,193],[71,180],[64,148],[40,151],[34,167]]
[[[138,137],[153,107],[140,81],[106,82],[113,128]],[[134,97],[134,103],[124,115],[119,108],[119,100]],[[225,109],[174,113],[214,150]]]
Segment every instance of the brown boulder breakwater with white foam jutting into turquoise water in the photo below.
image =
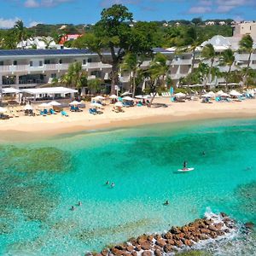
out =
[[193,247],[201,241],[221,238],[236,230],[235,221],[225,213],[196,219],[183,227],[172,227],[164,234],[138,236],[116,246],[107,247],[97,256],[160,256]]

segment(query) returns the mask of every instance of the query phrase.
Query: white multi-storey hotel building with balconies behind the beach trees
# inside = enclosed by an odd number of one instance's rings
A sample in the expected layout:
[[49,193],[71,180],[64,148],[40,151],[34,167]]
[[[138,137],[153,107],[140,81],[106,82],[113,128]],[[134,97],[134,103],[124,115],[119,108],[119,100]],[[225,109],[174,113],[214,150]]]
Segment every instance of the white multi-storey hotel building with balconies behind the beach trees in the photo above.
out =
[[[202,46],[211,43],[220,54],[224,49],[238,49],[241,37],[224,38],[215,36],[204,42],[197,49],[195,56],[195,68],[198,67]],[[256,47],[255,47],[256,48]],[[184,53],[177,55],[175,49],[154,49],[166,55],[169,73],[172,80],[177,84],[178,80],[191,72],[192,55]],[[110,57],[109,53],[104,53]],[[239,67],[247,67],[247,54],[236,53],[236,61],[232,70]],[[74,61],[80,61],[84,71],[88,73],[89,79],[101,78],[109,84],[111,66],[103,64],[96,53],[88,49],[15,49],[0,50],[0,87],[15,87],[17,89],[35,88],[40,84],[47,84],[53,78],[61,78],[67,72],[68,66]],[[142,67],[147,67],[149,61],[144,61]],[[218,61],[214,63],[218,66]],[[252,55],[250,67],[256,69],[256,54]],[[219,67],[225,71],[227,67]],[[120,76],[120,85],[128,86],[129,77]],[[218,81],[215,81],[217,84]]]

